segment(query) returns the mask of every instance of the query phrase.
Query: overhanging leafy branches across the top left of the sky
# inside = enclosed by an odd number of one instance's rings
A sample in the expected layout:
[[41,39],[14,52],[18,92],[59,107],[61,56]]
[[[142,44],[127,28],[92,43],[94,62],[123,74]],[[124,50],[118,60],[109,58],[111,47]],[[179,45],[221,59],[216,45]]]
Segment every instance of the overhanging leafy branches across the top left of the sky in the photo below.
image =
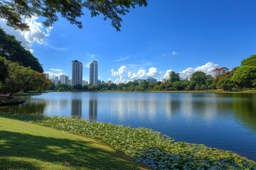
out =
[[70,23],[82,28],[82,23],[78,21],[84,15],[83,8],[90,11],[91,17],[104,16],[104,20],[109,18],[112,26],[120,30],[122,18],[129,12],[129,8],[135,6],[147,6],[146,0],[10,0],[0,2],[0,18],[7,20],[7,25],[19,30],[29,30],[26,23],[22,21],[22,16],[42,16],[46,18],[43,24],[52,26],[58,21],[58,13],[66,18]]

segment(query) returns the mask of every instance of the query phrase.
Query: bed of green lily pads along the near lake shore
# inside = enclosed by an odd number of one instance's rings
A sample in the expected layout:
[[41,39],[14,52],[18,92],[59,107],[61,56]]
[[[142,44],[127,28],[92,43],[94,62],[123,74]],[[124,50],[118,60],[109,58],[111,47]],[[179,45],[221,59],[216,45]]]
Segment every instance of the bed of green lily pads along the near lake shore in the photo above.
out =
[[256,169],[256,162],[230,151],[175,142],[146,128],[90,122],[80,118],[46,117],[30,120],[63,132],[91,137],[129,154],[151,169]]

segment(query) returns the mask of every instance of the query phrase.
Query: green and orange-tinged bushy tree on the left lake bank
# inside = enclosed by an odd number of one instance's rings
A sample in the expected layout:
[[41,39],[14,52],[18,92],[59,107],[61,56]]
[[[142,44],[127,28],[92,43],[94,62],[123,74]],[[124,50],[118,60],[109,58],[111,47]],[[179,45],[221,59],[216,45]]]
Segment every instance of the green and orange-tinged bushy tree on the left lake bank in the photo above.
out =
[[8,73],[5,81],[1,82],[1,90],[6,94],[14,94],[19,91],[46,91],[51,82],[44,74],[35,72],[29,67],[20,66],[18,63],[5,61],[8,64]]

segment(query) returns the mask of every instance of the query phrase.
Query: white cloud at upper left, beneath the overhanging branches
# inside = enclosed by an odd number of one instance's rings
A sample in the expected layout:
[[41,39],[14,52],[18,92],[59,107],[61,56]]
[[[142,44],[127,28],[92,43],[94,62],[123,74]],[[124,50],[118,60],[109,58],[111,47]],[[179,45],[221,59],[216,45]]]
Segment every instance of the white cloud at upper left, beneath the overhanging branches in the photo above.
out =
[[0,19],[1,27],[10,35],[14,35],[17,40],[21,41],[21,45],[27,50],[31,49],[34,42],[38,44],[46,44],[46,38],[50,35],[52,28],[44,28],[42,23],[38,23],[38,17],[33,16],[31,18],[25,18],[25,23],[28,24],[29,29],[27,31],[14,30],[9,26],[6,26],[6,20]]

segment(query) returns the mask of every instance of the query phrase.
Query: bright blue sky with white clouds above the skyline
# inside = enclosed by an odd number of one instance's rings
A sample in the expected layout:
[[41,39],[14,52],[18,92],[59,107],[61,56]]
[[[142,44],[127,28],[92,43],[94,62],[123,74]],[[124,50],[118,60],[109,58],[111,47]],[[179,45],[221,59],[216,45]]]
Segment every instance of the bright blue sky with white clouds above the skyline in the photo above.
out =
[[52,28],[42,25],[43,18],[28,18],[26,32],[1,19],[0,25],[33,52],[50,78],[72,79],[72,61],[78,60],[89,81],[89,64],[96,60],[102,81],[160,81],[171,71],[185,78],[216,67],[233,69],[256,54],[255,6],[255,0],[149,0],[122,16],[120,32],[101,15],[91,18],[87,9],[79,18],[82,29],[61,17]]

